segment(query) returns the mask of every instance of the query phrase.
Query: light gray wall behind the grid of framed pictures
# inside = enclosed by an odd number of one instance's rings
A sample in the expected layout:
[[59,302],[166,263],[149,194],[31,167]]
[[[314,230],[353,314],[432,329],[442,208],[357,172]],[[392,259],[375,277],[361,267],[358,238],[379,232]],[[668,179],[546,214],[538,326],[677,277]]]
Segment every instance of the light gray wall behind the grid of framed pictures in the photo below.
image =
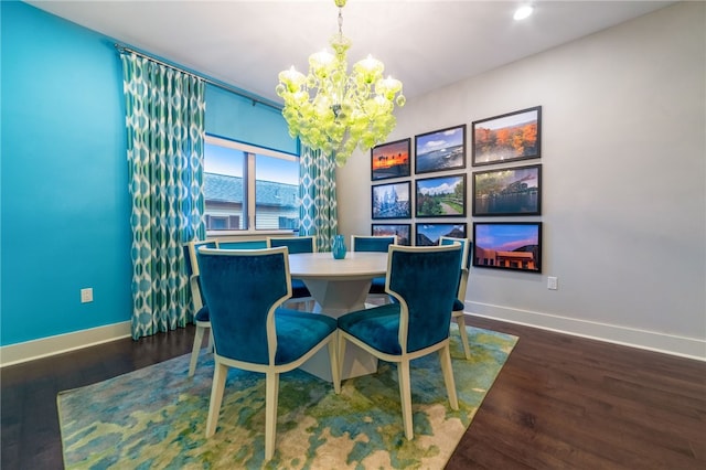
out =
[[[684,2],[408,99],[388,141],[467,124],[469,175],[496,168],[470,167],[473,120],[543,107],[520,162],[543,163],[543,215],[504,218],[544,223],[543,274],[472,268],[467,312],[706,359],[705,71],[706,4]],[[342,233],[370,233],[370,186],[359,152]]]

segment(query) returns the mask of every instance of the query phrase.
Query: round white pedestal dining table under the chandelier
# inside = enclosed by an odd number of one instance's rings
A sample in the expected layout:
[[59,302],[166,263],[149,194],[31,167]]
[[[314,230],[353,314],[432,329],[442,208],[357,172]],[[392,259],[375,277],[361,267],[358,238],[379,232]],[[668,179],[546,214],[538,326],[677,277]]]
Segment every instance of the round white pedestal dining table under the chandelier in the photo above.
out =
[[[339,318],[343,313],[365,308],[365,299],[375,277],[387,273],[387,253],[349,252],[344,259],[331,253],[298,253],[289,255],[289,273],[303,280],[317,301],[315,312]],[[329,355],[321,350],[302,370],[331,382]],[[377,359],[347,342],[341,378],[374,374]]]

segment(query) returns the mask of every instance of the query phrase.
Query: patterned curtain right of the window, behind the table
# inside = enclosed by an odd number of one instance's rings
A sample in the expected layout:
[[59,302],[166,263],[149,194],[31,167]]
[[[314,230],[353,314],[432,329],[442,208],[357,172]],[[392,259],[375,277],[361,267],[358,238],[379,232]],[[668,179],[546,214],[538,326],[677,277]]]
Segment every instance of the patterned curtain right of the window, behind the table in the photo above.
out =
[[315,235],[317,249],[330,252],[339,227],[335,200],[335,160],[302,148],[299,161],[300,235]]

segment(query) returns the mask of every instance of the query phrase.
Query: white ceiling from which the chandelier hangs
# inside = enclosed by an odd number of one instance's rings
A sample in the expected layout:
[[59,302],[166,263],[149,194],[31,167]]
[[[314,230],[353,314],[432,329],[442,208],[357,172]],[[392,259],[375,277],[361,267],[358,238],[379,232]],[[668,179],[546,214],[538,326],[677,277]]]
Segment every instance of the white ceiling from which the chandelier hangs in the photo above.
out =
[[[280,103],[277,74],[306,71],[338,31],[333,0],[62,1],[28,3],[157,57]],[[349,63],[372,54],[407,98],[663,8],[673,1],[349,0]]]

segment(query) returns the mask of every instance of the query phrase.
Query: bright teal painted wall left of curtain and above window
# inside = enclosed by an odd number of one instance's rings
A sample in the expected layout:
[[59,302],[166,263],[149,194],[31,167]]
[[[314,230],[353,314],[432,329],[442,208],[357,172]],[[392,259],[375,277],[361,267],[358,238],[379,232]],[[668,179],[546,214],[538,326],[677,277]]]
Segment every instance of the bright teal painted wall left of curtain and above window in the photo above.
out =
[[[0,1],[0,345],[128,321],[130,203],[114,41],[15,1]],[[248,114],[242,103],[229,111],[223,90],[206,98],[208,132],[217,125],[233,136],[243,119],[250,125],[232,138],[293,153],[277,110],[250,104]],[[81,303],[87,287],[94,301]]]

